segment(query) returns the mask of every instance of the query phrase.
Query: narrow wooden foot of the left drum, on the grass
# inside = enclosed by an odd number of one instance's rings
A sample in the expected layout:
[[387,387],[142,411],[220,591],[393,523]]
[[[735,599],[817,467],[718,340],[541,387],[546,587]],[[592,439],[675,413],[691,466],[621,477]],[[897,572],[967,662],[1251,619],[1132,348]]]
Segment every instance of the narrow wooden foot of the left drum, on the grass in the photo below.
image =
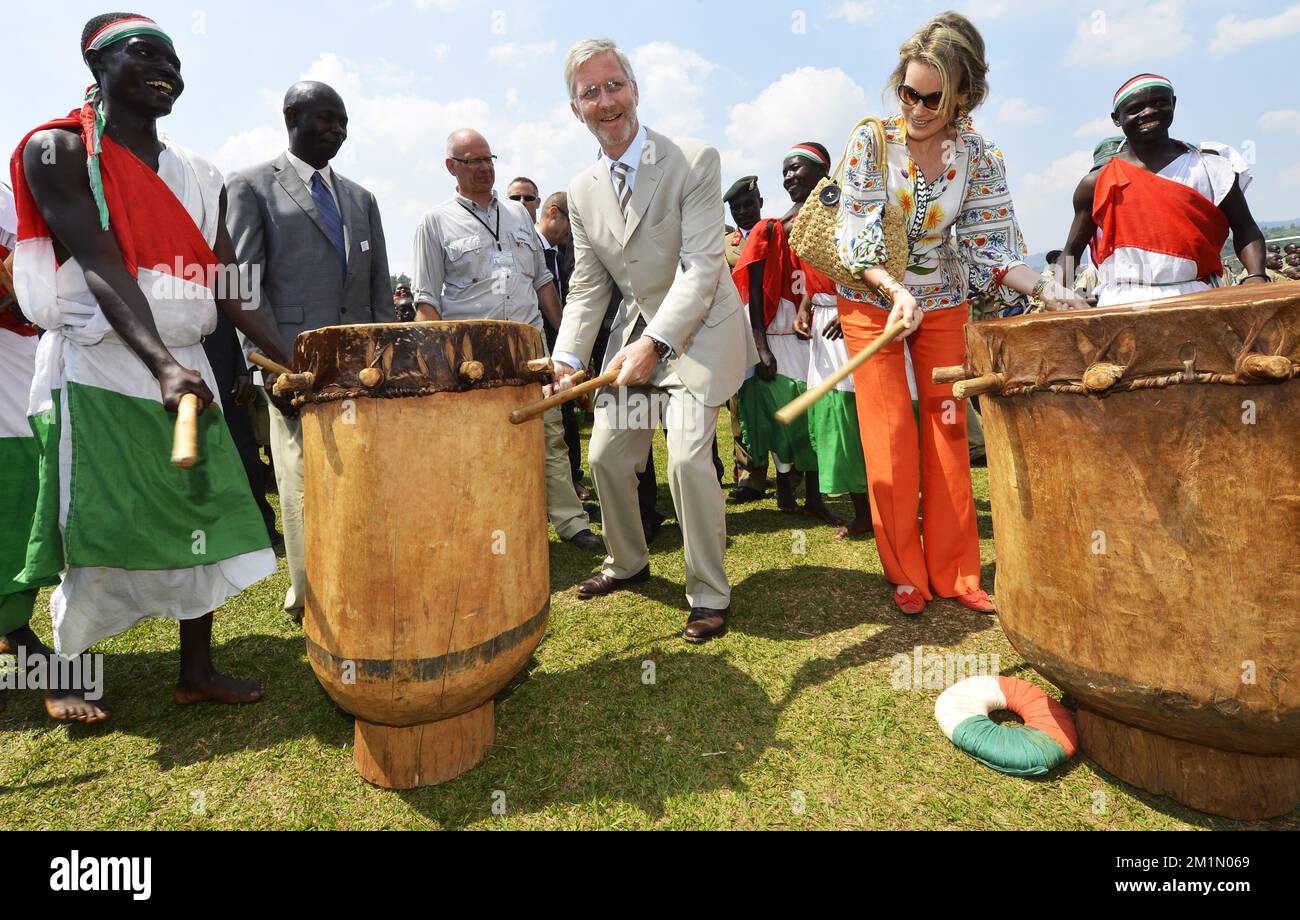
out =
[[491,700],[464,715],[410,728],[358,719],[352,763],[376,786],[433,786],[476,767],[491,747],[494,729]]

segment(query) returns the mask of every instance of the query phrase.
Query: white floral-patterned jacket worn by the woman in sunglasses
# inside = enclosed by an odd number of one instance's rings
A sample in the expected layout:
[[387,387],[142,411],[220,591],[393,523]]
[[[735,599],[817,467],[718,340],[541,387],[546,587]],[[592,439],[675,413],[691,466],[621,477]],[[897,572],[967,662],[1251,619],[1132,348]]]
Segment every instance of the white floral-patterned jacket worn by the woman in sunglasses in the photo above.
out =
[[[970,118],[962,118],[948,168],[927,182],[907,152],[902,118],[885,120],[884,129],[888,181],[876,165],[875,133],[859,127],[849,142],[835,230],[844,266],[855,274],[884,264],[888,187],[907,224],[904,283],[923,311],[959,307],[974,295],[998,301],[1000,314],[1022,312],[1024,295],[1000,286],[1002,275],[1023,265],[1028,253],[1008,190],[1002,151],[976,134]],[[841,287],[840,296],[885,305],[864,291]]]

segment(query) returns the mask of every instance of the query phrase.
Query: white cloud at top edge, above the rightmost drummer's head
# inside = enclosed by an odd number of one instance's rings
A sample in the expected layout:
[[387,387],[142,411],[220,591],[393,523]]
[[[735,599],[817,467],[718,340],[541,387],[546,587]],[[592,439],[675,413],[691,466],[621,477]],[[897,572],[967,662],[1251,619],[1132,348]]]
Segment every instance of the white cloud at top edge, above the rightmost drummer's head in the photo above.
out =
[[1066,61],[1082,68],[1143,66],[1191,44],[1184,0],[1112,0],[1079,19]]

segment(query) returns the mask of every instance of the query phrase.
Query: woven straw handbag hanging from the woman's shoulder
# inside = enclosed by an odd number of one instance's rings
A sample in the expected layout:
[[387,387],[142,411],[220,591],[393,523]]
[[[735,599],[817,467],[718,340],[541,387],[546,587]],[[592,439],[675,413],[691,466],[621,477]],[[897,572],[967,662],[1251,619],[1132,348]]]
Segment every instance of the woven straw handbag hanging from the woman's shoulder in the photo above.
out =
[[901,282],[907,270],[909,242],[907,224],[902,208],[888,195],[889,164],[885,153],[885,130],[879,118],[867,117],[859,121],[849,134],[849,147],[840,159],[840,165],[831,175],[822,179],[807,201],[800,208],[790,227],[790,248],[800,259],[828,277],[836,285],[854,291],[875,291],[859,277],[849,274],[840,261],[840,251],[835,244],[835,220],[840,212],[840,183],[844,179],[844,164],[849,159],[849,149],[853,147],[853,135],[863,125],[870,125],[876,135],[876,162],[880,166],[880,178],[885,182],[885,214],[884,234],[885,248],[889,252],[888,261],[881,266],[894,281]]

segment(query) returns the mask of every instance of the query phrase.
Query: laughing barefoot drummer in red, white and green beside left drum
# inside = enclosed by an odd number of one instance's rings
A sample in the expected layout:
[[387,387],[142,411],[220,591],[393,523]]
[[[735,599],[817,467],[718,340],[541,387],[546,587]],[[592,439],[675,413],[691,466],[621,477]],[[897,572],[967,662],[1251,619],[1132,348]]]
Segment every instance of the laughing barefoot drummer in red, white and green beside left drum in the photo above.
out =
[[[187,394],[216,402],[202,339],[218,309],[281,363],[289,348],[265,308],[229,290],[238,264],[221,173],[159,135],[185,88],[172,39],[147,17],[108,13],[86,23],[81,48],[95,77],[82,105],[30,131],[10,160],[14,294],[46,331],[26,399],[38,490],[26,563],[0,577],[56,586],[65,658],[165,616],[181,624],[177,703],[254,702],[259,682],[213,665],[212,611],[276,559],[218,413],[200,418],[192,474],[168,461],[172,413]],[[49,654],[20,633],[10,645]],[[48,703],[56,719],[107,716]]]

